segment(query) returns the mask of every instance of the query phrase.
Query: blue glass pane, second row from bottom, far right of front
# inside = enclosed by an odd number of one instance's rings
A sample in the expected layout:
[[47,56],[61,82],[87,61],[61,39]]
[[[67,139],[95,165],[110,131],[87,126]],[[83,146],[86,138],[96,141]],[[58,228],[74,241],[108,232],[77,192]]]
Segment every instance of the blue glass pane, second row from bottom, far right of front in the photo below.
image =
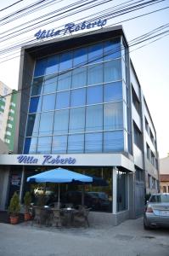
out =
[[123,127],[122,102],[104,105],[104,130],[121,129]]

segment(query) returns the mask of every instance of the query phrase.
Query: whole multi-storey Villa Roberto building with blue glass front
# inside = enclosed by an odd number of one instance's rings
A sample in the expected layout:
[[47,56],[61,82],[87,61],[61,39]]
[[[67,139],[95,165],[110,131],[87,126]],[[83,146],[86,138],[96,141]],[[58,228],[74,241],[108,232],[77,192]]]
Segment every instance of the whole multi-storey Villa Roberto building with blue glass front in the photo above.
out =
[[26,177],[65,166],[109,184],[86,186],[110,200],[93,206],[93,222],[144,212],[145,193],[158,191],[156,133],[121,26],[25,46],[19,90],[14,154],[0,158],[11,165],[7,204],[31,189]]

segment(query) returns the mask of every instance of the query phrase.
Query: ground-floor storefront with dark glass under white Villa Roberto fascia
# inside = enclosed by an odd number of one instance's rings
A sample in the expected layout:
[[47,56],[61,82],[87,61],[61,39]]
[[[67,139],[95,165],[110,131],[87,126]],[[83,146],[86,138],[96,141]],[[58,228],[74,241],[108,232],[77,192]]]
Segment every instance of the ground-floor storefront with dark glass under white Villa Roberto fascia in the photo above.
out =
[[[93,160],[90,159],[90,163],[92,162],[90,166],[87,165],[89,161],[86,161],[86,165],[78,165],[80,163],[79,156],[70,158],[67,156],[66,159],[59,155],[52,156],[52,159],[49,159],[49,156],[48,158],[43,157],[42,164],[38,157],[34,156],[25,158],[25,155],[8,155],[6,160],[0,158],[0,209],[8,207],[9,200],[15,191],[20,195],[21,204],[24,202],[26,191],[31,192],[31,200],[37,204],[38,195],[44,194],[45,188],[45,205],[57,202],[59,196],[62,204],[70,203],[76,207],[82,204],[82,193],[84,193],[83,203],[91,209],[90,218],[93,223],[119,224],[127,218],[134,218],[136,215],[135,201],[138,199],[134,194],[134,170],[131,162],[119,154],[116,154],[115,160],[111,159],[113,155],[106,159],[102,156],[100,154],[98,158],[95,158],[93,155]],[[63,159],[65,164],[61,164],[64,162]],[[8,165],[5,164],[7,160]],[[84,161],[83,159],[82,162]],[[70,165],[68,165],[69,162]],[[100,162],[103,163],[102,166]],[[115,166],[112,165],[113,162]],[[60,185],[57,183],[28,183],[26,181],[27,177],[58,167],[96,177],[96,180],[93,183],[81,185],[76,183]]]

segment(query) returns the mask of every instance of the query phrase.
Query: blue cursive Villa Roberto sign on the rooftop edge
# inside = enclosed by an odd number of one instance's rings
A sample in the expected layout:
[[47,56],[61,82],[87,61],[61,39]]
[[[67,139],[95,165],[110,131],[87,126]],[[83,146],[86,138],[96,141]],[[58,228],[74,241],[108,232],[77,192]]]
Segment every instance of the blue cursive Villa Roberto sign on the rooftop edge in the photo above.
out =
[[54,38],[59,35],[65,35],[67,33],[77,32],[84,29],[91,29],[93,27],[103,27],[107,23],[107,20],[97,20],[93,22],[83,21],[81,24],[75,24],[73,22],[70,22],[68,24],[65,24],[65,28],[61,30],[55,31],[54,29],[50,30],[39,30],[34,36],[38,39],[43,38]]

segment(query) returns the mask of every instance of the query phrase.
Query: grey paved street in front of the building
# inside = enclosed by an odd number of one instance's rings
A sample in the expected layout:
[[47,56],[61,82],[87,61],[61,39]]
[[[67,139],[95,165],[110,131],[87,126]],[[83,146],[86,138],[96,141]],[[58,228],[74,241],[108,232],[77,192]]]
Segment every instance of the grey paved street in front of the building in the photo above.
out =
[[0,256],[169,256],[169,230],[143,228],[143,218],[116,227],[39,228],[0,224]]

